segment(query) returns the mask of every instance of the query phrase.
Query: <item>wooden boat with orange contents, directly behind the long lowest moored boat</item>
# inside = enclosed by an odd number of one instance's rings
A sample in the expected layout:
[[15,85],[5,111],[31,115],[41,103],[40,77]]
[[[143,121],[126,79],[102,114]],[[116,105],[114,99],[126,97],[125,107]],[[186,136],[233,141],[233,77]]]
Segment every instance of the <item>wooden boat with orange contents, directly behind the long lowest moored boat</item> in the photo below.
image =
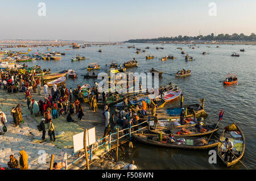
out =
[[[192,120],[192,119],[191,119]],[[206,129],[205,132],[197,132],[197,128],[195,128],[195,124],[191,124],[190,127],[174,127],[174,128],[166,128],[166,129],[155,129],[150,130],[150,132],[159,134],[160,132],[163,133],[164,136],[168,136],[170,133],[172,133],[174,136],[183,136],[183,137],[197,137],[197,136],[206,136],[208,134],[212,134],[214,132],[217,132],[220,127],[216,128],[216,124],[213,125],[202,125],[203,129]],[[216,128],[216,129],[215,129]]]

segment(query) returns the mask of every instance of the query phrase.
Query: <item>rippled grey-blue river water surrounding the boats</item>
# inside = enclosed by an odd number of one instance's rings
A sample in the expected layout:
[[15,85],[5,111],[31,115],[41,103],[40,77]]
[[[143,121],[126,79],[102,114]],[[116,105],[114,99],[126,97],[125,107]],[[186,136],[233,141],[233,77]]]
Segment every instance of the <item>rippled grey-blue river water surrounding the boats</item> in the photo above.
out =
[[[137,54],[136,49],[129,49],[127,46],[135,45],[136,48],[144,49],[145,53]],[[209,46],[209,47],[208,47]],[[123,47],[123,48],[120,48]],[[156,50],[155,47],[163,47],[164,49]],[[182,47],[185,54],[193,56],[194,61],[186,62],[184,54],[181,54]],[[198,48],[199,47],[199,48]],[[180,44],[130,44],[123,45],[104,45],[102,47],[92,45],[92,47],[72,49],[65,47],[49,47],[55,52],[65,52],[61,60],[47,61],[36,60],[29,65],[40,65],[42,68],[51,68],[51,72],[74,69],[78,73],[76,79],[67,78],[67,87],[75,88],[77,84],[84,85],[89,83],[93,85],[94,79],[84,79],[82,74],[86,74],[86,68],[89,63],[98,62],[101,69],[95,71],[96,74],[108,70],[105,66],[113,60],[119,64],[131,60],[134,57],[138,61],[137,68],[129,69],[133,72],[149,72],[151,68],[163,71],[163,77],[159,79],[160,85],[168,82],[175,83],[182,90],[185,104],[198,103],[199,99],[205,98],[205,111],[208,113],[208,123],[217,123],[218,113],[223,108],[225,115],[221,121],[222,128],[230,123],[237,123],[245,134],[246,148],[242,162],[249,169],[256,169],[256,124],[255,124],[255,103],[256,103],[256,46],[254,45],[196,45],[195,49],[189,48],[188,45]],[[65,49],[71,50],[65,50]],[[244,48],[245,52],[240,52]],[[46,47],[31,48],[32,53],[48,52]],[[103,52],[97,52],[102,49]],[[11,50],[27,51],[27,48],[11,48]],[[203,55],[203,52],[207,52]],[[232,53],[239,53],[240,57],[230,56]],[[71,62],[71,57],[80,54],[89,59]],[[148,54],[154,55],[156,58],[146,60]],[[161,56],[173,54],[174,60],[160,61]],[[26,63],[27,64],[27,63]],[[187,78],[175,78],[175,73],[180,69],[190,69],[192,74]],[[226,75],[235,73],[238,77],[238,85],[224,86],[221,81]],[[179,106],[176,100],[170,104],[171,107]],[[135,160],[135,164],[141,169],[226,169],[220,159],[217,163],[209,163],[208,150],[182,150],[167,149],[148,146],[134,142],[133,149],[127,149],[119,157],[124,161]],[[245,169],[241,163],[228,169]]]

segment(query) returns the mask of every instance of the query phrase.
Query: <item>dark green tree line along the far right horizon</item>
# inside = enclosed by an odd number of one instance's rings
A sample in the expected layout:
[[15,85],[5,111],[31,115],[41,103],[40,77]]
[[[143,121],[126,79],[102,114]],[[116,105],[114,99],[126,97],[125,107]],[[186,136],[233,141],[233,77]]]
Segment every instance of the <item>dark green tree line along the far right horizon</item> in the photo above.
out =
[[232,35],[221,33],[217,36],[214,36],[214,33],[210,35],[203,36],[175,36],[175,37],[158,37],[155,39],[132,39],[125,41],[126,43],[143,43],[148,41],[193,41],[193,40],[201,40],[201,41],[253,41],[256,40],[255,33],[251,33],[251,35],[246,36],[245,34],[241,33],[233,33]]

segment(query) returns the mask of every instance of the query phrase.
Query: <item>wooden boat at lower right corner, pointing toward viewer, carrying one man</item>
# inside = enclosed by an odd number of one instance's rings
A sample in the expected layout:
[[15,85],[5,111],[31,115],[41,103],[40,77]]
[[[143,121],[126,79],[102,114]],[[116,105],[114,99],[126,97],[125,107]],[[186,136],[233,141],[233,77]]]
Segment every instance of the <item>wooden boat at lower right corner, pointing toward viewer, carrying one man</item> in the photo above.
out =
[[[229,141],[233,142],[233,153],[234,155],[236,155],[236,157],[233,158],[232,162],[228,162],[225,161],[225,155],[223,151],[225,146],[221,143],[219,143],[218,147],[217,147],[217,154],[218,157],[220,157],[221,161],[227,166],[233,166],[235,165],[238,161],[240,161],[240,159],[243,157],[243,154],[245,153],[245,136],[243,135],[242,130],[240,129],[240,127],[238,127],[237,124],[234,123],[234,125],[236,125],[237,127],[237,131],[240,132],[240,134],[238,134],[236,131],[223,131],[221,136],[220,136],[220,140],[224,141],[225,138],[229,138]],[[228,159],[229,160],[229,159]]]

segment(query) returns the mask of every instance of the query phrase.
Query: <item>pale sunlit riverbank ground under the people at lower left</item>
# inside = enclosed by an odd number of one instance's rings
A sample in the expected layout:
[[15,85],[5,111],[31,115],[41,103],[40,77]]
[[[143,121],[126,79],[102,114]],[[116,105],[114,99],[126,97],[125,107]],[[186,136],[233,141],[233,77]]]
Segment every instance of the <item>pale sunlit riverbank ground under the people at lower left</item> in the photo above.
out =
[[[43,91],[41,95],[32,93],[32,99],[43,100]],[[13,116],[10,114],[12,107],[16,107],[17,104],[21,104],[22,116],[24,123],[18,127],[13,125]],[[78,120],[74,115],[73,119],[77,120],[76,123],[68,123],[66,116],[61,115],[57,119],[53,119],[55,125],[56,141],[51,142],[49,136],[46,134],[46,141],[42,141],[42,132],[39,132],[36,125],[38,125],[43,116],[31,115],[30,110],[27,108],[27,102],[23,92],[17,92],[14,94],[0,90],[0,110],[2,110],[7,117],[7,129],[8,131],[1,135],[0,139],[0,166],[7,167],[9,162],[9,156],[14,154],[14,157],[19,159],[19,151],[25,150],[28,154],[28,162],[30,163],[30,169],[45,170],[49,167],[51,154],[55,154],[55,162],[63,160],[63,154],[67,152],[67,155],[73,153],[73,135],[83,132],[85,128],[90,129],[96,127],[96,139],[100,139],[103,136],[105,129],[105,121],[102,117],[102,110],[96,113],[89,110],[88,105],[83,104],[84,114],[82,120]],[[40,152],[41,150],[41,152]],[[42,150],[46,152],[46,162],[40,163],[38,158],[42,154]],[[105,152],[103,153],[105,154]],[[108,153],[107,153],[108,154]],[[92,169],[119,169],[123,162],[118,162],[119,166],[115,166],[113,158],[105,155],[100,157],[94,157],[95,160],[92,164]],[[77,157],[73,155],[69,158],[68,164],[75,161]],[[110,164],[110,162],[112,164]],[[74,164],[70,169],[77,170],[84,167],[84,160]],[[100,165],[99,165],[100,164]],[[121,164],[121,165],[120,165]]]

